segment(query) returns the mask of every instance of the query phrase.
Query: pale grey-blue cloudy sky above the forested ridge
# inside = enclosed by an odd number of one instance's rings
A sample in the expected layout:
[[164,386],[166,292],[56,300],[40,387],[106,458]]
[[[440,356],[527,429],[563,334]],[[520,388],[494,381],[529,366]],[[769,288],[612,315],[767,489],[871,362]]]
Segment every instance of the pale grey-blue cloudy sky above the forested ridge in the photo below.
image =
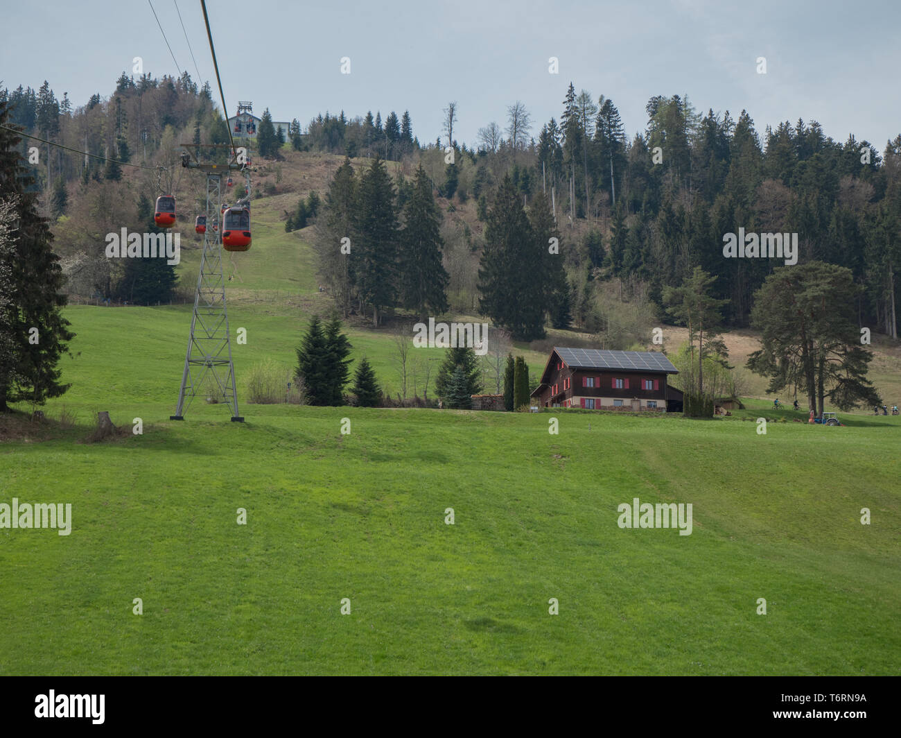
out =
[[[173,0],[153,0],[181,69],[196,78]],[[200,3],[180,0],[197,66],[213,78]],[[853,132],[881,152],[901,133],[901,3],[897,0],[671,0],[670,2],[293,3],[209,0],[229,115],[239,99],[260,115],[306,125],[326,110],[384,119],[410,111],[421,142],[441,134],[441,109],[459,106],[455,138],[506,125],[521,100],[537,138],[560,119],[571,80],[605,95],[632,135],[653,95],[687,94],[699,112],[746,108],[767,124],[815,118],[843,141]],[[44,79],[75,106],[108,97],[132,58],[159,77],[176,74],[147,0],[33,2],[4,10],[0,79]],[[12,32],[10,32],[12,31]],[[341,57],[350,57],[350,75]],[[560,73],[548,72],[548,59]],[[766,57],[767,74],[757,73]],[[218,94],[214,96],[218,99]]]

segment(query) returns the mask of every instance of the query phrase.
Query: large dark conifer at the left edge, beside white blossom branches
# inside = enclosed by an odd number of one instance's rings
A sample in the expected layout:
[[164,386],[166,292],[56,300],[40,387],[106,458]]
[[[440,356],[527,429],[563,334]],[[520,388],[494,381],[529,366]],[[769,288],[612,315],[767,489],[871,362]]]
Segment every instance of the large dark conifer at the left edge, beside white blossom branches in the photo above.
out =
[[[0,356],[0,411],[6,410],[8,402],[43,404],[66,392],[69,385],[59,382],[58,364],[68,354],[68,341],[75,337],[62,317],[67,302],[62,293],[65,277],[53,253],[53,235],[46,218],[38,215],[34,180],[18,151],[22,139],[3,127],[7,125],[7,104],[0,101],[0,181],[6,198],[18,196],[14,248],[0,256],[7,260],[5,271],[14,294],[5,306],[5,319],[0,319],[13,342],[7,346],[6,358]],[[32,327],[38,329],[37,343],[29,340]]]

